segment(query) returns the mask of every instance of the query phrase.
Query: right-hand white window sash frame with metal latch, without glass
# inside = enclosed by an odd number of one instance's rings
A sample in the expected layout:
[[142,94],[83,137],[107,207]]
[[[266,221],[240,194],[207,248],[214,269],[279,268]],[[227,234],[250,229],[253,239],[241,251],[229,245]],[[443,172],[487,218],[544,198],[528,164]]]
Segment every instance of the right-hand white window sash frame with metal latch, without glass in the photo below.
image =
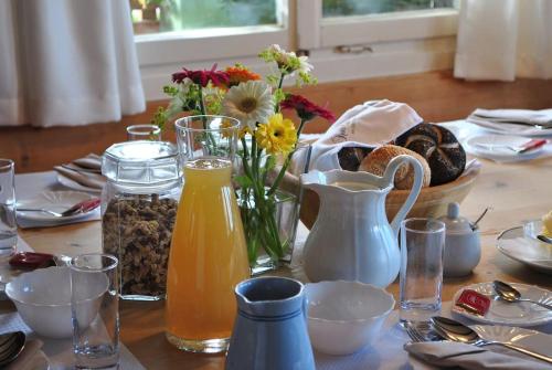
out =
[[322,0],[297,1],[297,44],[321,82],[453,67],[458,9],[322,18]]

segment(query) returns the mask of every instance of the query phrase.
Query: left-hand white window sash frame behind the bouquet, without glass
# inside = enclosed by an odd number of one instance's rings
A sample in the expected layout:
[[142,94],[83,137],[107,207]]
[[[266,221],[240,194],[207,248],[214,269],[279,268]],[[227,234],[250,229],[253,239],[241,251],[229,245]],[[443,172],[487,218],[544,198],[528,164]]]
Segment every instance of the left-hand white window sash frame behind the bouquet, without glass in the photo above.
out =
[[162,86],[182,66],[210,68],[236,62],[261,72],[258,52],[270,44],[290,49],[289,0],[276,1],[277,25],[213,28],[137,34],[136,51],[147,101],[167,98]]

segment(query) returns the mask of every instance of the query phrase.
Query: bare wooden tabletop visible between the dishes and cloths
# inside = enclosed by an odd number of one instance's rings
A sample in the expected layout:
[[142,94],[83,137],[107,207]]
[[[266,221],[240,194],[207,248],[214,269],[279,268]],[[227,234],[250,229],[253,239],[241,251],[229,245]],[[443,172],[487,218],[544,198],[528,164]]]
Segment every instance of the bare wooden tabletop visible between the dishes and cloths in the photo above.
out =
[[[495,249],[497,235],[522,220],[540,218],[552,210],[552,158],[518,165],[481,160],[484,168],[461,213],[475,219],[486,207],[492,210],[481,221],[482,258],[474,274],[446,279],[443,299],[452,299],[463,285],[502,279],[535,284],[552,289],[551,275],[533,272]],[[70,250],[100,250],[100,224],[88,222],[60,228],[21,230],[20,235],[39,252],[67,253]],[[399,284],[388,288],[395,299]],[[13,309],[11,307],[11,309]],[[181,352],[163,335],[163,303],[121,302],[121,340],[148,369],[222,369],[224,357]]]

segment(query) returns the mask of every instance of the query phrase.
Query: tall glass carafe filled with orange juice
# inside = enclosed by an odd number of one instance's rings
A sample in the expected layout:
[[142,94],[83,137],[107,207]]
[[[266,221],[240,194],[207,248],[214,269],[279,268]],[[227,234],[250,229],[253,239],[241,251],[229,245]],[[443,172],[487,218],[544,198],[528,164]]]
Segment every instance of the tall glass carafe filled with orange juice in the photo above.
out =
[[250,274],[231,182],[240,123],[193,116],[176,127],[184,188],[169,256],[167,338],[188,351],[225,351],[236,314],[234,286]]

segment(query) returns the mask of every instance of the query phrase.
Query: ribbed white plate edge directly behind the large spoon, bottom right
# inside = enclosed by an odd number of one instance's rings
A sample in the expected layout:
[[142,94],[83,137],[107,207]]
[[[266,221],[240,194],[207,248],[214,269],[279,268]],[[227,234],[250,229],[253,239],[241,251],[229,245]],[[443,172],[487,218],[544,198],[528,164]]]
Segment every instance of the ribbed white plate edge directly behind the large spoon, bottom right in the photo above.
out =
[[538,353],[552,357],[551,335],[501,325],[475,325],[470,327],[484,339],[509,341]]

